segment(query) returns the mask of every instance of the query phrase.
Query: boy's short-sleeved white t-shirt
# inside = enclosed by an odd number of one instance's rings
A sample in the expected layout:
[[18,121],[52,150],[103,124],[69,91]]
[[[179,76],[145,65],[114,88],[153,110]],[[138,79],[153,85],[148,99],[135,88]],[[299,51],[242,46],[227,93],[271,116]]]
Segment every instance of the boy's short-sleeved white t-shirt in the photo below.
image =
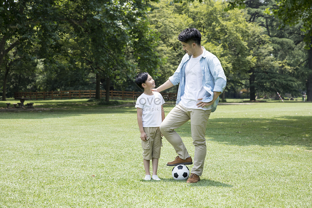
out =
[[161,105],[165,101],[159,92],[153,93],[153,95],[141,94],[135,104],[135,108],[143,109],[143,127],[159,127],[162,122]]

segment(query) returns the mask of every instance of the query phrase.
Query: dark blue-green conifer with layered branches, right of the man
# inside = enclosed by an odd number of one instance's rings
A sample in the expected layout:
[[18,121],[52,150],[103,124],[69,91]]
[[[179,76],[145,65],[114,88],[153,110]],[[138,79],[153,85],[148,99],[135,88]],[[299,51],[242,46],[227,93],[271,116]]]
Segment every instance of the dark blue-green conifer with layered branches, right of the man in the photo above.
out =
[[[298,27],[285,27],[278,29],[280,24],[277,17],[266,14],[266,8],[275,8],[276,4],[273,0],[268,1],[251,1],[245,2],[248,12],[248,22],[254,22],[265,29],[265,34],[270,38],[271,54],[276,57],[278,67],[273,67],[274,70],[265,70],[265,74],[258,76],[258,82],[261,83],[261,91],[264,94],[272,92],[280,92],[280,94],[290,93],[293,95],[299,94],[300,79],[296,72],[298,56],[297,46],[302,41]],[[299,30],[299,31],[298,31]],[[301,56],[302,57],[302,56]],[[275,65],[276,66],[276,65]],[[269,80],[268,80],[269,79]],[[273,81],[274,80],[274,81]],[[277,96],[278,97],[278,96]],[[279,98],[278,98],[279,99]]]

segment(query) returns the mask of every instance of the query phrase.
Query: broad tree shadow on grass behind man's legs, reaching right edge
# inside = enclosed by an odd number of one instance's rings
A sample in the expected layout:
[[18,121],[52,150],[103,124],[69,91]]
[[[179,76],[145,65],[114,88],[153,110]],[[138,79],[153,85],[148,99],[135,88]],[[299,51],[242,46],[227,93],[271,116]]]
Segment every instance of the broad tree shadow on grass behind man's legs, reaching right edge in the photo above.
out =
[[[273,119],[219,118],[208,121],[206,139],[225,145],[296,145],[312,149],[311,116],[282,116]],[[191,125],[177,129],[191,138]]]

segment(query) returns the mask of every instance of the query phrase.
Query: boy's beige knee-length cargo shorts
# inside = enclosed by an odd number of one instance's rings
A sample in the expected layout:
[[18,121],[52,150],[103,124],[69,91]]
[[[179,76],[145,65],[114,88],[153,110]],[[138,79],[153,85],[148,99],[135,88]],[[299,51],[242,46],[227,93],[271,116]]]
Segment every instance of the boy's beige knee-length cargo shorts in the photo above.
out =
[[143,127],[147,141],[142,140],[143,159],[151,160],[152,158],[159,159],[160,147],[163,146],[161,132],[159,127]]

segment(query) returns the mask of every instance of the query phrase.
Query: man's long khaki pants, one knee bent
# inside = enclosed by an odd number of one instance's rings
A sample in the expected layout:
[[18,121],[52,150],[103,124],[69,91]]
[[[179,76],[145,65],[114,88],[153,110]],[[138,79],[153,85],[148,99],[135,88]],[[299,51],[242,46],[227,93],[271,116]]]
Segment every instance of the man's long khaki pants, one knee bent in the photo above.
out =
[[179,157],[185,160],[190,155],[181,137],[174,129],[179,128],[188,120],[191,120],[191,135],[193,138],[193,145],[195,146],[194,166],[191,173],[195,173],[198,176],[202,175],[204,168],[207,152],[205,132],[210,113],[211,110],[189,109],[178,104],[169,112],[159,127],[161,133],[173,146]]

